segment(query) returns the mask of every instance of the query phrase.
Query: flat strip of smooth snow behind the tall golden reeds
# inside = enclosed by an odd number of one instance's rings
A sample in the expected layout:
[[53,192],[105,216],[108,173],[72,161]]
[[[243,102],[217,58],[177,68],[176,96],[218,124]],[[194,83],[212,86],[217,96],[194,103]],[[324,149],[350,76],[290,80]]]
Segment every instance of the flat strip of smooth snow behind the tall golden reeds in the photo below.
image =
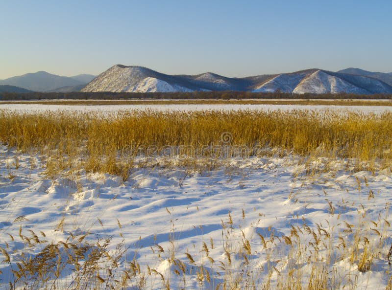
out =
[[291,110],[318,110],[318,111],[354,111],[381,113],[392,111],[392,106],[332,106],[332,105],[254,105],[254,104],[146,104],[146,105],[41,105],[41,104],[1,104],[0,110],[45,112],[45,111],[101,111],[117,112],[119,110],[156,110],[156,111],[291,111]]

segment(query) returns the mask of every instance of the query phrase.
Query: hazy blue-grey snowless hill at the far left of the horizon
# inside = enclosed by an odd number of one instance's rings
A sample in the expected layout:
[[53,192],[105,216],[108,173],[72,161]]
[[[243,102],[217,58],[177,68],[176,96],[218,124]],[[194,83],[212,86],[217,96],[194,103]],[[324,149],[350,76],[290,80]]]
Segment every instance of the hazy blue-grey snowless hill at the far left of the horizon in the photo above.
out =
[[[85,76],[82,76],[81,78],[85,78]],[[16,86],[33,91],[49,91],[57,88],[85,85],[87,83],[88,82],[82,82],[70,77],[51,74],[46,71],[26,73],[21,76],[0,80],[0,85]]]

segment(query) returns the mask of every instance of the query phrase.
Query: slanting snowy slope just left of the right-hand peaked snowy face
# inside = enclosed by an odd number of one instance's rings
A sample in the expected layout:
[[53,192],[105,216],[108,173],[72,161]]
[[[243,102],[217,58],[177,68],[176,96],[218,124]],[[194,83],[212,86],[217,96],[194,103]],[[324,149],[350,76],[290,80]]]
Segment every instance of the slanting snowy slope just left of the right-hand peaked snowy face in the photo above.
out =
[[306,73],[279,74],[278,76],[256,87],[253,92],[293,92]]

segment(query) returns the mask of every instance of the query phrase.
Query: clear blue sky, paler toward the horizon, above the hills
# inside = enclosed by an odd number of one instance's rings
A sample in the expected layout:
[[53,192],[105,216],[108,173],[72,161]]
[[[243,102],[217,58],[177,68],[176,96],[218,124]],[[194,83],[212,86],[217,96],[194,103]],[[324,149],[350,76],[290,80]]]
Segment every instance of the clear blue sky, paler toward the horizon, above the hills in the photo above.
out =
[[392,0],[0,0],[0,79],[115,64],[227,76],[392,72]]

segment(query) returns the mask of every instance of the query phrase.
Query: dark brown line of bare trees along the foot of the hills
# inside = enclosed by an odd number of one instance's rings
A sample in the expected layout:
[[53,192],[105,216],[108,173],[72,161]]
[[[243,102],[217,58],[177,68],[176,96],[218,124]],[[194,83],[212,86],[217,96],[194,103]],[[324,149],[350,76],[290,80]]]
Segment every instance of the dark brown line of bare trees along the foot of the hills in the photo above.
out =
[[247,91],[194,91],[194,92],[0,92],[0,100],[89,100],[89,99],[162,99],[162,100],[228,100],[228,99],[372,99],[389,100],[392,94],[294,94],[284,92],[247,92]]

